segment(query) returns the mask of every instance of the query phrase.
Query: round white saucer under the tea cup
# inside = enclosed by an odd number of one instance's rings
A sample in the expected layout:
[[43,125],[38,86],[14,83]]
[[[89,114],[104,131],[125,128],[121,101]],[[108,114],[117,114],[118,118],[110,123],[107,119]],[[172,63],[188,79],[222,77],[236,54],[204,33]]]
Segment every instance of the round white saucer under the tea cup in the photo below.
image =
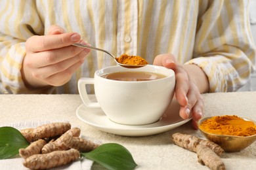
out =
[[177,105],[177,103],[172,103],[158,122],[141,126],[116,124],[106,117],[102,109],[91,109],[83,104],[77,108],[76,115],[81,121],[101,131],[122,136],[147,136],[169,131],[190,120],[183,120],[179,116],[179,107]]

